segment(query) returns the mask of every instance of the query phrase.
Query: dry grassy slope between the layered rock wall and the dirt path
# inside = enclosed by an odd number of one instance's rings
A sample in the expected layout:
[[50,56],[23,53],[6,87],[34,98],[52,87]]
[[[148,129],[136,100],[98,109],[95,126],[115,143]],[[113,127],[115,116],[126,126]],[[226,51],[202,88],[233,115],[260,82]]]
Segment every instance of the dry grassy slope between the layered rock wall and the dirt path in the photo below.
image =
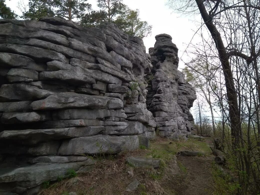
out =
[[[173,156],[181,149],[197,149],[198,146],[187,141],[172,141],[169,144],[170,142],[166,138],[157,138],[151,142],[149,149],[138,149],[113,157],[99,157],[93,171],[76,177],[79,180],[77,183],[74,182],[75,178],[64,179],[42,190],[40,194],[174,194],[173,189],[179,186],[178,183],[183,184],[185,173],[180,171],[179,176],[175,177],[168,171]],[[125,163],[130,155],[160,158],[161,167],[158,170],[131,167]],[[131,193],[126,192],[127,185],[134,179],[140,181],[139,187]]]

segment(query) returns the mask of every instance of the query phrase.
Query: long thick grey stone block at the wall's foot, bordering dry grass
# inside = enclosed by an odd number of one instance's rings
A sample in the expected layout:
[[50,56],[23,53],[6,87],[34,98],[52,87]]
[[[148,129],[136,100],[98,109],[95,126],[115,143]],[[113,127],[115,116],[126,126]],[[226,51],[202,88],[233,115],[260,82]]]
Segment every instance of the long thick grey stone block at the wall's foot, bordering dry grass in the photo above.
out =
[[[88,144],[86,144],[88,143]],[[119,153],[134,150],[139,146],[137,136],[95,135],[73,138],[62,142],[59,155]]]

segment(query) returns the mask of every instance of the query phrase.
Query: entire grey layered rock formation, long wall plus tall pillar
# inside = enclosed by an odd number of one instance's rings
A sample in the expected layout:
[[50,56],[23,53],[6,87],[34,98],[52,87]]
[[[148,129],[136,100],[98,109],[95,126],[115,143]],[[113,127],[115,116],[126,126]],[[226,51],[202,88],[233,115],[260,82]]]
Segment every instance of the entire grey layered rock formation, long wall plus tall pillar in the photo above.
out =
[[70,168],[88,171],[88,155],[147,146],[155,128],[190,132],[196,95],[171,37],[156,40],[150,56],[112,23],[0,20],[0,192],[35,194]]

